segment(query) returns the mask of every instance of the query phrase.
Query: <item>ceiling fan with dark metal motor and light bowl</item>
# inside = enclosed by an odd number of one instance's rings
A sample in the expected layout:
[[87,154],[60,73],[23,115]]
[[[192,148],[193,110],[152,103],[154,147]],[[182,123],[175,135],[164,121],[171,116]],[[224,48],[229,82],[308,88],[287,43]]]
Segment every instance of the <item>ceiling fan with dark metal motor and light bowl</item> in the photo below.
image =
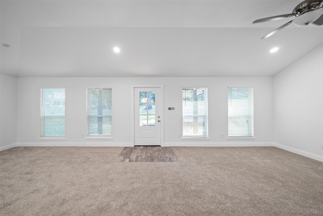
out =
[[279,30],[282,30],[291,23],[297,26],[308,25],[309,23],[313,23],[315,25],[323,25],[323,0],[303,1],[294,8],[291,14],[262,18],[253,21],[253,23],[280,20],[287,17],[296,18],[275,29],[274,31],[264,35],[261,39],[272,36],[273,34],[277,33]]

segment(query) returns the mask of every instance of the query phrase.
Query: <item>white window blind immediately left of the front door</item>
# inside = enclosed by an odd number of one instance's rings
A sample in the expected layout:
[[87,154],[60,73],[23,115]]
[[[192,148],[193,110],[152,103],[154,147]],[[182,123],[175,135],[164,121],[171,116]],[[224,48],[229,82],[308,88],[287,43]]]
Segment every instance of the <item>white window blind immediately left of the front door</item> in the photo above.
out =
[[112,89],[87,88],[87,136],[112,136]]

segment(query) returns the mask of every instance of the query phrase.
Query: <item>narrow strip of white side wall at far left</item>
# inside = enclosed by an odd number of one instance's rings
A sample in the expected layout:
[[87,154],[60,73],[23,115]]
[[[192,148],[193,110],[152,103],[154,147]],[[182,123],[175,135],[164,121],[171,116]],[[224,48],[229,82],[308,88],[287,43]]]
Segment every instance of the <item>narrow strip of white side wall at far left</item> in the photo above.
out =
[[0,151],[16,146],[17,142],[17,79],[0,74]]

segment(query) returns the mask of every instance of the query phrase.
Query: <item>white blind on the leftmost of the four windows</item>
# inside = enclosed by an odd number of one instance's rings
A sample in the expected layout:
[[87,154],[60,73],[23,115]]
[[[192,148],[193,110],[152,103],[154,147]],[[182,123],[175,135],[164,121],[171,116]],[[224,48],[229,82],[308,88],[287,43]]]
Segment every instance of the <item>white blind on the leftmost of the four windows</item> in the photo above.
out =
[[65,137],[65,88],[40,89],[40,137]]

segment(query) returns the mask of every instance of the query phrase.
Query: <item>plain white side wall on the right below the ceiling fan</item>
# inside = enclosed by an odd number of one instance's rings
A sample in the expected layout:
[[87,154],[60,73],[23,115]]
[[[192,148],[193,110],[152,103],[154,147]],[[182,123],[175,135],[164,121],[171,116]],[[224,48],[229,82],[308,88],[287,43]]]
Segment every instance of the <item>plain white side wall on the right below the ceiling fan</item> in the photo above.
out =
[[273,78],[274,142],[323,161],[323,45]]

